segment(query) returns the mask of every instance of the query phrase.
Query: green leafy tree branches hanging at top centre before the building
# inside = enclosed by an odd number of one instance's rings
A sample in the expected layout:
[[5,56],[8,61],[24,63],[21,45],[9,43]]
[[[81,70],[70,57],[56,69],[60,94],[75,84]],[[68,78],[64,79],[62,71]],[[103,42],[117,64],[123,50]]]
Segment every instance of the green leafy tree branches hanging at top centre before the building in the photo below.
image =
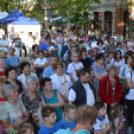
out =
[[75,25],[87,25],[90,11],[93,10],[91,4],[101,4],[100,0],[48,0],[47,2],[49,6],[56,8],[55,13],[74,22]]

